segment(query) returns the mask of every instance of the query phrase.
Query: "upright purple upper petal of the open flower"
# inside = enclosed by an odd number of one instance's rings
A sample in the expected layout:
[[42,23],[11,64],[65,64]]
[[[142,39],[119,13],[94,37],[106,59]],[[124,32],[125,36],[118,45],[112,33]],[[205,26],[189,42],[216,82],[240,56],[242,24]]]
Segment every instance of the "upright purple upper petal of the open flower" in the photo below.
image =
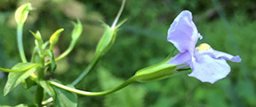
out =
[[180,53],[183,53],[187,50],[194,51],[198,38],[202,36],[192,20],[192,13],[181,11],[168,30],[167,40],[172,42]]

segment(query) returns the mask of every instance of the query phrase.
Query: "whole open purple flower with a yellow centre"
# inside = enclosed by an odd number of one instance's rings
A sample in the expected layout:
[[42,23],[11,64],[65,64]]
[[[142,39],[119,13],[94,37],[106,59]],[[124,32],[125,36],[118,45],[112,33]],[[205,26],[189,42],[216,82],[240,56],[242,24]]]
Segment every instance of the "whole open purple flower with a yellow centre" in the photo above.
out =
[[214,83],[225,78],[230,72],[226,60],[241,62],[241,58],[213,50],[206,43],[196,47],[197,40],[202,38],[192,20],[192,13],[181,11],[168,30],[167,40],[180,51],[178,55],[172,57],[169,64],[186,64],[179,67],[190,66],[193,71],[188,76],[196,77],[202,82]]

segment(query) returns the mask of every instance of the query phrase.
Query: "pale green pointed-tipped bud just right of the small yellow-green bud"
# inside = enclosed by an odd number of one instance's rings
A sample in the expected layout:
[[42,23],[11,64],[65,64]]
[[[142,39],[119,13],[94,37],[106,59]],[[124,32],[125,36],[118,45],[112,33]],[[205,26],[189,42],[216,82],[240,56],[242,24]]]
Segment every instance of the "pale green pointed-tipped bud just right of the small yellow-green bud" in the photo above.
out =
[[72,40],[77,41],[83,32],[83,26],[79,19],[77,19],[77,23],[73,22],[73,25],[74,25],[74,29],[72,31]]

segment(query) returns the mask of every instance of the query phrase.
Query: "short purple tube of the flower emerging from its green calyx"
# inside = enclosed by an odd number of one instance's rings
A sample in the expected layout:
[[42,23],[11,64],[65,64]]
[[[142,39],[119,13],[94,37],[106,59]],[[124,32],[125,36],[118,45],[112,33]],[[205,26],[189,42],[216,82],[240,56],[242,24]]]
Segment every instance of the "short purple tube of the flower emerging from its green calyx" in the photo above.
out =
[[168,64],[181,65],[189,64],[191,62],[191,54],[186,51],[184,53],[179,53],[175,57],[172,57],[171,61]]

